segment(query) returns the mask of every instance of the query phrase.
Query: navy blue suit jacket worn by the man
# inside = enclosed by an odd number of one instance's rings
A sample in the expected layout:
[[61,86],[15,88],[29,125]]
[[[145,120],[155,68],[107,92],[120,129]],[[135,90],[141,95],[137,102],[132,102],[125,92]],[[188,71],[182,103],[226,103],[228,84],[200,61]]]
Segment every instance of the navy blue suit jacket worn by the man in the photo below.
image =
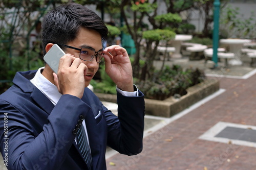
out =
[[54,106],[30,82],[35,73],[17,72],[14,85],[0,95],[0,151],[8,157],[8,169],[88,169],[74,141],[80,115],[86,121],[93,169],[106,169],[106,145],[126,155],[142,151],[140,91],[137,97],[117,94],[117,117],[88,88],[82,99],[65,94]]

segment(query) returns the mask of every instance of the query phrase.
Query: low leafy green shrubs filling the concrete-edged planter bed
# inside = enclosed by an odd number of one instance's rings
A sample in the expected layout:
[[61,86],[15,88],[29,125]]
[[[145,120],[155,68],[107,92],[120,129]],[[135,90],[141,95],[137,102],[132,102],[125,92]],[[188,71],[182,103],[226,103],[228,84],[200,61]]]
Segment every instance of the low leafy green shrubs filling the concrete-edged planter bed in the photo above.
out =
[[173,65],[172,68],[166,66],[162,72],[155,71],[152,80],[134,82],[145,98],[164,100],[175,94],[185,95],[188,87],[202,82],[204,78],[203,71],[198,68],[182,69],[179,65]]

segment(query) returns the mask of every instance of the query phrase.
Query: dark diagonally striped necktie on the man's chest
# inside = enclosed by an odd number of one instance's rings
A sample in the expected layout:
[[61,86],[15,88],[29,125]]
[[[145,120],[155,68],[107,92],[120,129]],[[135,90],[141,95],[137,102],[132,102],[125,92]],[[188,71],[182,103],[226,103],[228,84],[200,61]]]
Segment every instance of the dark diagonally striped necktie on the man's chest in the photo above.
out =
[[92,157],[90,154],[90,148],[87,141],[86,132],[84,131],[84,128],[82,125],[77,131],[76,137],[77,137],[77,145],[83,156],[83,159],[86,161],[89,169],[92,169]]

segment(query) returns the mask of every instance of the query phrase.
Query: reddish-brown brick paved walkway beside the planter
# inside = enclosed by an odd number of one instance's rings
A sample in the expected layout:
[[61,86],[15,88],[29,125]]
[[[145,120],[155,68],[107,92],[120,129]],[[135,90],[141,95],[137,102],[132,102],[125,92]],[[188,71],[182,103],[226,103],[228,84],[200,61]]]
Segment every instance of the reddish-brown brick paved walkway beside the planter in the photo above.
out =
[[110,157],[108,170],[255,170],[256,148],[199,139],[218,122],[256,126],[256,75],[218,79],[225,92],[146,136],[141,154]]

